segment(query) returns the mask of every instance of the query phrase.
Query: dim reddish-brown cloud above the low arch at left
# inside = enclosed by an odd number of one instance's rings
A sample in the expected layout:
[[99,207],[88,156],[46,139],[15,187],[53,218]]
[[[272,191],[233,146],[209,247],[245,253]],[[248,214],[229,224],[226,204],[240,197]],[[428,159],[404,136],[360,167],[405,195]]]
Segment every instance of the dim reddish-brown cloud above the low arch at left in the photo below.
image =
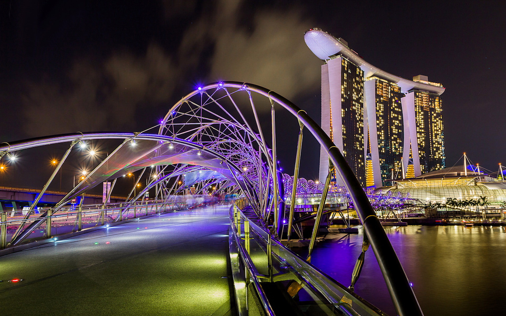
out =
[[118,126],[130,130],[138,125],[139,108],[170,100],[176,78],[172,59],[155,44],[141,57],[125,51],[99,64],[77,60],[63,82],[28,84],[23,96],[25,132],[40,136]]

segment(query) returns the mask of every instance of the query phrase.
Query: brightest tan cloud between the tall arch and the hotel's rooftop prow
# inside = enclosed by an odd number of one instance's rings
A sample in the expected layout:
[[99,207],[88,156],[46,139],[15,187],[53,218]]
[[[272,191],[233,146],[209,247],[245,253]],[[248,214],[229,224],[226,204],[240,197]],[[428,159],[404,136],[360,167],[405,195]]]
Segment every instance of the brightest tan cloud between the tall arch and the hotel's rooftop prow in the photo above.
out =
[[313,22],[303,18],[302,10],[260,10],[246,27],[241,9],[238,1],[219,2],[212,18],[201,18],[185,32],[180,57],[196,62],[211,42],[211,81],[252,82],[288,99],[317,89],[321,62],[304,43]]

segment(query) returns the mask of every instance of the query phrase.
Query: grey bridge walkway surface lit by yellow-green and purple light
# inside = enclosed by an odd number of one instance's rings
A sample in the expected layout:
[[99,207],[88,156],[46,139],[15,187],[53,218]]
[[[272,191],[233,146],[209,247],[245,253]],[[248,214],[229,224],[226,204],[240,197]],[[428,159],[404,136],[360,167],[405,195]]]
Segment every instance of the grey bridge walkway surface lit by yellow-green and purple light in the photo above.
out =
[[228,209],[154,216],[5,255],[2,316],[233,314],[231,278],[221,278]]

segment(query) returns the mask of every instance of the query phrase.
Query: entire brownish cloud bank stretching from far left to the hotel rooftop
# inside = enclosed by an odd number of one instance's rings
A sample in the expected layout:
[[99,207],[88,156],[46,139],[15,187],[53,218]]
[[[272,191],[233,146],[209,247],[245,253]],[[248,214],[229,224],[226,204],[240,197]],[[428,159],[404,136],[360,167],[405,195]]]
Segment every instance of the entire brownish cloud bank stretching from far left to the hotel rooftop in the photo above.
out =
[[[24,131],[40,136],[150,127],[137,122],[136,113],[158,104],[168,109],[188,92],[180,92],[182,81],[194,74],[207,82],[256,83],[288,99],[317,89],[320,78],[315,69],[320,61],[303,40],[312,22],[296,9],[259,10],[246,25],[242,5],[219,1],[202,10],[172,51],[153,40],[141,54],[121,48],[111,50],[103,60],[76,57],[62,78],[45,74],[43,80],[31,81],[22,98]],[[171,19],[193,12],[196,5],[162,2],[162,7],[164,19]]]

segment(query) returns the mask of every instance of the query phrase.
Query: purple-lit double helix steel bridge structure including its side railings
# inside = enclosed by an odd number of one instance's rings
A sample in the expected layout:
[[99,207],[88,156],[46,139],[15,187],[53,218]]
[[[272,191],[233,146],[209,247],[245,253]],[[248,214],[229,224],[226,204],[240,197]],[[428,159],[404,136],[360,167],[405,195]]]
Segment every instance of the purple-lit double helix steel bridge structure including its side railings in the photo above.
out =
[[[279,118],[282,118],[282,123]],[[285,129],[287,119],[292,120],[291,124],[297,124],[299,131],[294,136],[298,145],[294,155],[293,177],[283,175],[277,162],[276,145],[281,133],[276,130]],[[422,314],[402,265],[366,193],[339,149],[304,110],[264,87],[222,81],[200,86],[182,98],[155,128],[158,129],[156,133],[152,129],[134,133],[78,132],[2,144],[0,157],[4,161],[37,147],[58,144],[60,148],[62,144],[68,147],[55,160],[52,174],[29,208],[23,214],[14,216],[16,218],[9,218],[7,213],[2,213],[0,246],[9,248],[26,244],[33,240],[30,234],[34,228],[44,224],[48,227],[48,223],[49,231],[46,230],[40,238],[52,237],[51,222],[62,214],[75,215],[70,220],[73,223],[72,231],[83,229],[82,197],[103,183],[110,183],[110,189],[105,202],[96,206],[98,211],[89,221],[93,227],[116,224],[135,218],[139,213],[149,215],[210,203],[209,192],[237,194],[240,201],[234,204],[230,212],[230,249],[240,314],[276,314],[276,310],[281,308],[278,302],[282,299],[286,299],[286,306],[291,306],[294,312],[299,310],[297,314],[311,314],[311,308],[290,303],[290,299],[295,297],[301,301],[304,291],[324,301],[325,308],[320,311],[326,314],[384,314],[353,292],[364,252],[369,245],[398,314]],[[318,196],[320,202],[316,203],[318,209],[311,216],[315,217],[315,225],[309,255],[302,259],[283,246],[280,240],[283,236],[289,240],[294,230],[294,208],[298,198],[295,188],[298,188],[304,134],[313,137],[328,154],[330,168],[325,183],[304,184],[309,193],[316,189],[321,193]],[[283,138],[288,137],[285,131],[282,135]],[[67,160],[72,160],[69,158],[73,157],[72,153],[81,146],[100,141],[112,142],[115,147],[98,159],[91,170],[83,173],[80,180],[54,206],[38,208],[40,198],[59,170]],[[322,201],[327,199],[329,192],[339,201],[345,194],[335,190],[332,192],[330,169],[333,167],[343,178],[346,199],[353,203],[364,230],[362,254],[357,260],[350,287],[336,283],[310,263],[325,204]],[[139,180],[146,170],[150,173],[149,181],[146,186],[139,188]],[[125,201],[114,205],[107,203],[117,179],[136,171],[140,171],[140,175],[137,180],[134,178],[134,187]],[[285,182],[292,190],[285,190]],[[145,200],[145,193],[153,189],[154,199]],[[285,191],[289,196],[285,196]],[[182,201],[185,193],[195,197],[192,202]],[[80,197],[81,203],[71,203]],[[9,234],[8,227],[11,227]],[[251,246],[250,241],[255,241],[256,247],[266,254],[266,270],[262,270],[258,262],[256,265],[255,256],[251,253],[256,248]],[[283,295],[279,295],[278,288],[274,286],[278,281],[290,281]]]

